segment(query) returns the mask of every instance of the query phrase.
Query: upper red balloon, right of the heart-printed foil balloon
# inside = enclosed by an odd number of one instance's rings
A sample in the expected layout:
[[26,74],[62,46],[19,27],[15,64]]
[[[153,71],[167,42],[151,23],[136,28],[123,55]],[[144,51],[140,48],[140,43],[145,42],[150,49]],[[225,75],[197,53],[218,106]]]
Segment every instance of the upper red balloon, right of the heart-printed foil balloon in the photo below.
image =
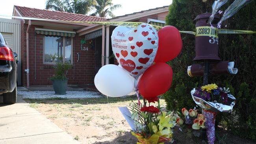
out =
[[180,32],[174,26],[165,26],[158,31],[158,50],[154,62],[167,62],[180,54],[182,39]]

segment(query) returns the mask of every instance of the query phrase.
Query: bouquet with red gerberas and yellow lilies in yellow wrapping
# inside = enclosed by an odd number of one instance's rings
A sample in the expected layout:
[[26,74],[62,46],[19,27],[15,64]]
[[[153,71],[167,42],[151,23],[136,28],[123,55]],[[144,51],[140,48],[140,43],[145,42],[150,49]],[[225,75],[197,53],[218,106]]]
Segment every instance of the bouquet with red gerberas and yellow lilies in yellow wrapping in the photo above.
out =
[[[139,142],[137,144],[163,144],[163,142],[171,141],[173,132],[172,128],[175,126],[175,117],[170,116],[171,112],[161,111],[159,99],[148,98],[148,105],[146,100],[144,103],[132,102],[129,105],[132,111],[132,120],[136,129],[132,131]],[[150,105],[150,103],[158,102],[157,106]]]

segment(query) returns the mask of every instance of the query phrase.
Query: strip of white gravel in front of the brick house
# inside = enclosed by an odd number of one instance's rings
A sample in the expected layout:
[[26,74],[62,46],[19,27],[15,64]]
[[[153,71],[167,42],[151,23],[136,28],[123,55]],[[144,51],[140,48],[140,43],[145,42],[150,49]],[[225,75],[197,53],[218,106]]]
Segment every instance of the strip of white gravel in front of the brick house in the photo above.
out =
[[56,95],[54,91],[22,91],[17,94],[22,98],[99,98],[101,94],[93,91],[67,91],[67,94]]

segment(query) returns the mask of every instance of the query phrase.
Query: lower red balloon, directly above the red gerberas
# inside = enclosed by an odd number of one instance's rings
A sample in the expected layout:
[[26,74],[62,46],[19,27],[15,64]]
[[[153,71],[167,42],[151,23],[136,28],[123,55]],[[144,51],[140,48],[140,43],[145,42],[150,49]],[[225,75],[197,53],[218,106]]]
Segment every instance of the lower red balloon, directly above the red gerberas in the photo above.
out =
[[145,98],[152,98],[165,93],[171,87],[173,70],[166,63],[150,66],[139,80],[139,93]]

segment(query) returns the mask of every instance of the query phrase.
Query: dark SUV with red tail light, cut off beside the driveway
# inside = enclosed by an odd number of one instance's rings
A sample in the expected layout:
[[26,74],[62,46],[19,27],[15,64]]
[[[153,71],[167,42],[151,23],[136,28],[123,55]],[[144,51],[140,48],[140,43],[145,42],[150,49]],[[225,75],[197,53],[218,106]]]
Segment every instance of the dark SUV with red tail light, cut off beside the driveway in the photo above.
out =
[[17,54],[8,46],[0,33],[0,95],[4,96],[4,103],[17,102]]

